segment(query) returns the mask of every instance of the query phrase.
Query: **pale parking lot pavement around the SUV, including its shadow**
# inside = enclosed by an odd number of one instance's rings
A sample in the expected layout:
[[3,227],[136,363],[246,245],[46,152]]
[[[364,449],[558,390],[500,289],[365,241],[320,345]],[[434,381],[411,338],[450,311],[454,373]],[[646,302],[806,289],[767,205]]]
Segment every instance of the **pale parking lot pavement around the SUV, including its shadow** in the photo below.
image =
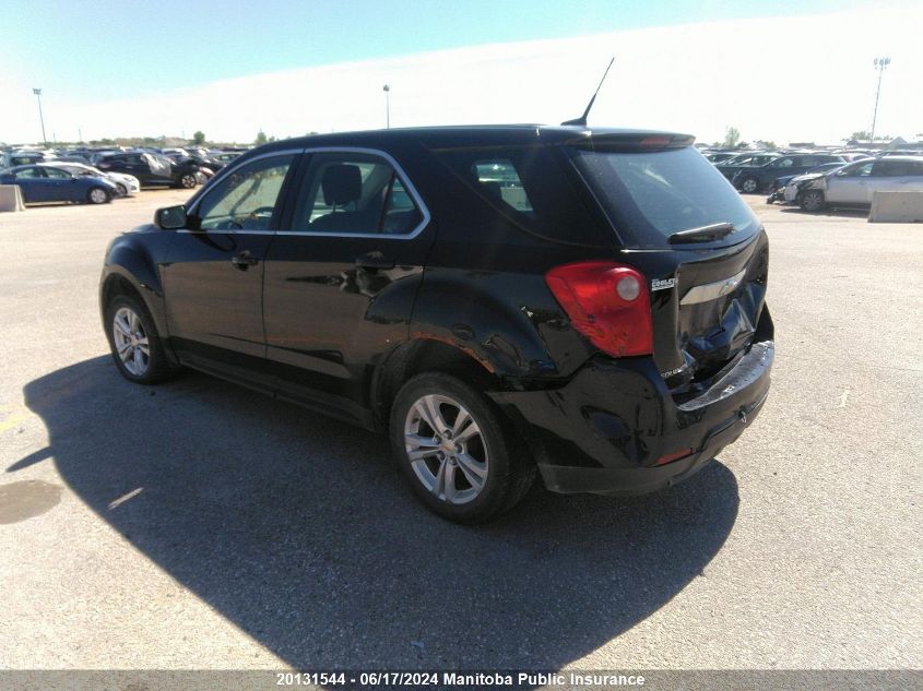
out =
[[388,440],[122,380],[96,283],[186,191],[0,215],[0,667],[923,666],[923,225],[748,201],[773,389],[685,485],[461,527]]

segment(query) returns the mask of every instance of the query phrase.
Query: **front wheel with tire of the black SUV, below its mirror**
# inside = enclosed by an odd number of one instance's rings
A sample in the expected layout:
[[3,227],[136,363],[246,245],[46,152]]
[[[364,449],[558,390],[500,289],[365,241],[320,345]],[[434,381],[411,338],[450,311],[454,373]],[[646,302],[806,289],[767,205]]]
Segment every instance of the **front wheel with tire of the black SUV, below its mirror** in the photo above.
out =
[[113,359],[127,380],[153,384],[174,373],[154,320],[139,298],[113,298],[106,308],[106,325]]

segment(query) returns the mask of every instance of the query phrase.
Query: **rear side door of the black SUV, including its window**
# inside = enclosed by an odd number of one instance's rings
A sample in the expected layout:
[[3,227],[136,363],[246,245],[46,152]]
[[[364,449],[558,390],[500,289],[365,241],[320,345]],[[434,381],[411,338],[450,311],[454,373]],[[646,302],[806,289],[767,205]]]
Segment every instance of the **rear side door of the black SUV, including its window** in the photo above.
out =
[[384,153],[317,151],[267,254],[267,357],[279,395],[368,424],[369,368],[409,336],[429,214]]

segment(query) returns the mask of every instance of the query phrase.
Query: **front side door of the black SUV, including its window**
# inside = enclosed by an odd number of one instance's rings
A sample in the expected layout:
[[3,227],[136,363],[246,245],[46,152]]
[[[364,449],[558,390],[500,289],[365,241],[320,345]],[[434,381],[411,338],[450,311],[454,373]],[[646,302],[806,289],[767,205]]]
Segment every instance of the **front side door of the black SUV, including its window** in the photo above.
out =
[[255,159],[190,209],[161,267],[170,342],[180,359],[272,390],[265,372],[262,288],[296,154]]

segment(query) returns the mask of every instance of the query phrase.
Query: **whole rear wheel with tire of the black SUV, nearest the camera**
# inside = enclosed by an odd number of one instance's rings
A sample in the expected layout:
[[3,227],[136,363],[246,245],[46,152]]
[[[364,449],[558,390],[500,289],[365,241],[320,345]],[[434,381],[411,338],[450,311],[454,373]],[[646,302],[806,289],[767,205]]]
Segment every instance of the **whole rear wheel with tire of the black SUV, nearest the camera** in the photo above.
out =
[[476,390],[449,374],[411,379],[391,409],[391,441],[416,496],[457,523],[486,521],[516,505],[535,465],[524,442]]

